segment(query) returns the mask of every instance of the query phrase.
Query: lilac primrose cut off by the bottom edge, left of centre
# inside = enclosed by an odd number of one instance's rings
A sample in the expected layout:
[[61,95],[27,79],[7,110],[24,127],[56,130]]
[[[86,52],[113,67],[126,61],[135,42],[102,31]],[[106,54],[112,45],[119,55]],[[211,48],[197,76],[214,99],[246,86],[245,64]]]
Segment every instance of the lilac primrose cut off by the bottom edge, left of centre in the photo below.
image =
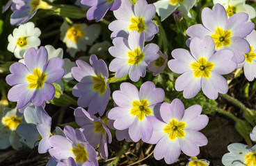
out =
[[95,149],[87,142],[83,133],[79,129],[65,126],[64,136],[51,136],[49,138],[49,154],[57,160],[67,164],[68,158],[74,158],[77,165],[81,166],[86,161],[98,165]]

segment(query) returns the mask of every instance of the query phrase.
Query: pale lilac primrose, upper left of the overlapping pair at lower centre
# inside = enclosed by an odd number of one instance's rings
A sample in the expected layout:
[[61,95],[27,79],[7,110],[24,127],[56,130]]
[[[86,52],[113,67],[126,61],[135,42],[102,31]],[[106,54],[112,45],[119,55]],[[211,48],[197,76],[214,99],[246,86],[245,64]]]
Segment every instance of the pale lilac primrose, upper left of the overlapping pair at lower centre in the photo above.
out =
[[163,102],[164,91],[155,88],[153,82],[145,82],[140,91],[134,84],[120,84],[120,91],[113,92],[113,100],[118,107],[108,113],[108,118],[115,120],[113,127],[118,130],[129,129],[129,136],[134,142],[149,140],[152,135],[152,123],[149,116],[155,116]]

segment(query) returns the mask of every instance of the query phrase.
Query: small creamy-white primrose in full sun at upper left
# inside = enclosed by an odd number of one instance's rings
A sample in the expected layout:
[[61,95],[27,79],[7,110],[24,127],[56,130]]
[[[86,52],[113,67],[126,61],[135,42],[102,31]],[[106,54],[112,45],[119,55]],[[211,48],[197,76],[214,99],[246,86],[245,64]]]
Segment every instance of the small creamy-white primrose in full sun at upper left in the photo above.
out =
[[8,36],[7,49],[14,53],[15,57],[21,59],[24,57],[24,53],[31,47],[38,48],[40,46],[41,35],[39,28],[35,28],[33,22],[20,25],[18,28],[13,30],[13,35]]

